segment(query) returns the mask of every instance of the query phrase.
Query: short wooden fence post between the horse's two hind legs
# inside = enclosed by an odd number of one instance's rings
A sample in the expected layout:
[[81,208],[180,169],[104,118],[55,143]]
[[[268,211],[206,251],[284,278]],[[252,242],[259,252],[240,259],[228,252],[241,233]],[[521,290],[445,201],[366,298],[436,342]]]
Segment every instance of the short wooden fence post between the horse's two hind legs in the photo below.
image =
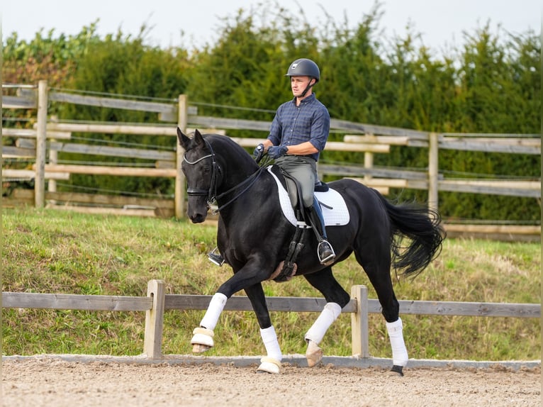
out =
[[357,312],[351,314],[352,355],[369,357],[368,287],[351,287],[351,298],[357,300]]

